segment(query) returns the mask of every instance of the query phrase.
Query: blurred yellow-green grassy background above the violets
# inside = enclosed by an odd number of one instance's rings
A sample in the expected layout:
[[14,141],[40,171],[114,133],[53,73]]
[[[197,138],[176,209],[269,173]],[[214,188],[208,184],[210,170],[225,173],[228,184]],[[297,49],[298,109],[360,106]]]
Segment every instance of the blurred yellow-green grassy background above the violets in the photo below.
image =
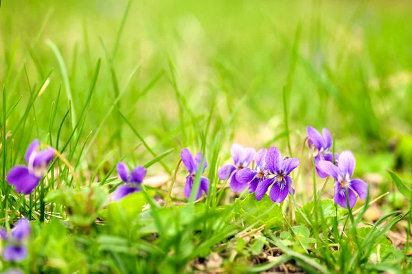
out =
[[[117,107],[158,151],[196,144],[195,133],[185,136],[179,128],[193,117],[204,128],[212,106],[213,123],[238,111],[229,139],[268,144],[284,131],[286,84],[293,150],[301,147],[306,126],[328,127],[336,136],[336,150],[354,150],[361,171],[411,172],[410,1],[130,3],[2,1],[0,84],[8,109],[23,96],[8,119],[16,146],[25,147],[18,143],[27,134],[56,136],[69,109],[67,87],[74,113],[80,115],[102,58],[81,129],[84,141],[102,124],[89,159],[113,149],[119,149],[119,158],[139,143]],[[27,113],[36,117],[34,128],[24,124],[14,131],[52,69],[47,87]],[[69,136],[70,118],[63,125],[60,138]],[[271,144],[285,146],[286,141]]]

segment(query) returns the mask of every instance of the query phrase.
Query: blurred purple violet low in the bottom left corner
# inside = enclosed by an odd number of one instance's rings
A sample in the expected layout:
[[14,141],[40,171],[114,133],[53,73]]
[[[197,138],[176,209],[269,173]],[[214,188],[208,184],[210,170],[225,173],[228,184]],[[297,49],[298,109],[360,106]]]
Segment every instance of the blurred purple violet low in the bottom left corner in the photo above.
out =
[[10,234],[5,229],[0,229],[0,237],[6,242],[2,253],[3,260],[21,262],[27,257],[25,240],[31,230],[30,222],[25,218],[16,222]]

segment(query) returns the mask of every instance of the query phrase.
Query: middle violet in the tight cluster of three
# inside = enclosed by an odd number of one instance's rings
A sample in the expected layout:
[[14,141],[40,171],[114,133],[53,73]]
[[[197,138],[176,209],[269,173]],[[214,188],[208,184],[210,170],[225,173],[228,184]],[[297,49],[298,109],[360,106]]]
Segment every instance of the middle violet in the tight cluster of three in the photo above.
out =
[[268,170],[265,162],[267,151],[266,148],[262,148],[256,153],[256,167],[254,170],[251,168],[244,168],[236,172],[236,181],[242,184],[249,183],[249,193],[255,192],[258,184],[268,179]]

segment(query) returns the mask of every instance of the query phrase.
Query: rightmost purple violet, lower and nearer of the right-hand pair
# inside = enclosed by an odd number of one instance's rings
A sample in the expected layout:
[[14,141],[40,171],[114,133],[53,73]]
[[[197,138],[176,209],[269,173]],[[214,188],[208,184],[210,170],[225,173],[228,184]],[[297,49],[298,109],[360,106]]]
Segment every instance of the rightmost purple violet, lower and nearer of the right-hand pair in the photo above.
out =
[[330,161],[319,161],[319,167],[335,179],[334,202],[347,208],[346,190],[349,194],[349,206],[356,205],[356,194],[364,199],[367,196],[367,184],[361,179],[351,179],[354,173],[356,160],[352,152],[345,150],[339,156],[338,166]]

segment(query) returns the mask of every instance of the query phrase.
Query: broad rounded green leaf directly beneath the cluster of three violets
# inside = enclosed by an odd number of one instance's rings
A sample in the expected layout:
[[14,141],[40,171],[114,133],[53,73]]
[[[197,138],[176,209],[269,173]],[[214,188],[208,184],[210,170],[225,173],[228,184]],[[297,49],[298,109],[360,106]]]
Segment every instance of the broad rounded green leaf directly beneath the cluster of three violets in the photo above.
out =
[[249,194],[240,202],[239,212],[242,214],[244,222],[247,222],[248,225],[257,222],[258,227],[266,224],[266,229],[282,227],[284,225],[282,209],[280,209],[279,205],[273,203],[266,194],[260,201],[256,200],[254,193]]

